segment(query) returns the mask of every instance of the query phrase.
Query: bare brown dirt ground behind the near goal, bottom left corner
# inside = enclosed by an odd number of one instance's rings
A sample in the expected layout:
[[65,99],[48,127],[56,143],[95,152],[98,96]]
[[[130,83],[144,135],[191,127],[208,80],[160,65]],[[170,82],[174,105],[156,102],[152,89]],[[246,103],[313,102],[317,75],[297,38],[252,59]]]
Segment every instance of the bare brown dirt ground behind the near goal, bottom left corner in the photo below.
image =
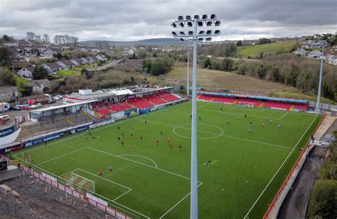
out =
[[[0,189],[0,218],[106,218],[107,213],[33,176],[21,176],[1,184],[19,196]],[[109,215],[109,218],[112,218]]]

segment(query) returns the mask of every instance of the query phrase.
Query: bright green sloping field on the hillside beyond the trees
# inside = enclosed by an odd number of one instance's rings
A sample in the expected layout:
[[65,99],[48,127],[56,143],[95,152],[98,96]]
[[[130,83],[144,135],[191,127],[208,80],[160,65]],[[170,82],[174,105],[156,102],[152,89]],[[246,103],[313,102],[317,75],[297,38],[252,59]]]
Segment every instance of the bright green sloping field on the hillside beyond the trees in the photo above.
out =
[[269,43],[263,45],[245,45],[237,47],[237,57],[260,57],[260,53],[264,55],[290,52],[295,42]]

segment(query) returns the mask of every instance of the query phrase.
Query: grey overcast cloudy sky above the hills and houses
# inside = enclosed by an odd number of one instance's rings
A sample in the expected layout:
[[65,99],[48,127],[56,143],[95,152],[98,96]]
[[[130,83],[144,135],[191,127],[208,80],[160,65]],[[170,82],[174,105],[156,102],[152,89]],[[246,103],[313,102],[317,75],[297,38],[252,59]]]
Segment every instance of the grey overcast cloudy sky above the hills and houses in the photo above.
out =
[[336,0],[0,0],[0,34],[75,35],[80,40],[171,37],[178,15],[216,13],[217,40],[292,37],[337,30]]

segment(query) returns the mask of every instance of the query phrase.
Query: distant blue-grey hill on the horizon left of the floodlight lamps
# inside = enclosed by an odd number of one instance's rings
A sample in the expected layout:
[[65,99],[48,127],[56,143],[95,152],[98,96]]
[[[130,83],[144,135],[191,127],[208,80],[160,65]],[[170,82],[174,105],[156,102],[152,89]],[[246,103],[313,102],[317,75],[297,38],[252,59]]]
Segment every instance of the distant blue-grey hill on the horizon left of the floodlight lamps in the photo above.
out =
[[152,38],[137,41],[109,41],[109,40],[87,40],[81,41],[80,44],[95,45],[99,41],[107,41],[109,45],[170,45],[179,44],[181,41],[175,38]]

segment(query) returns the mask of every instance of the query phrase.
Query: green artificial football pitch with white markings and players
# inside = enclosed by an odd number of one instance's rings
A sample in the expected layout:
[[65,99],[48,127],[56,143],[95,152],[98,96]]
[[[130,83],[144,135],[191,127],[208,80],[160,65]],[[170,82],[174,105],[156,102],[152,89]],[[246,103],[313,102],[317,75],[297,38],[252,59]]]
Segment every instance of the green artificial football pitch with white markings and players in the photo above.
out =
[[[191,102],[180,103],[8,156],[31,155],[34,170],[60,180],[90,179],[95,196],[134,218],[188,218],[190,116]],[[208,102],[198,116],[200,218],[262,218],[322,118]]]

